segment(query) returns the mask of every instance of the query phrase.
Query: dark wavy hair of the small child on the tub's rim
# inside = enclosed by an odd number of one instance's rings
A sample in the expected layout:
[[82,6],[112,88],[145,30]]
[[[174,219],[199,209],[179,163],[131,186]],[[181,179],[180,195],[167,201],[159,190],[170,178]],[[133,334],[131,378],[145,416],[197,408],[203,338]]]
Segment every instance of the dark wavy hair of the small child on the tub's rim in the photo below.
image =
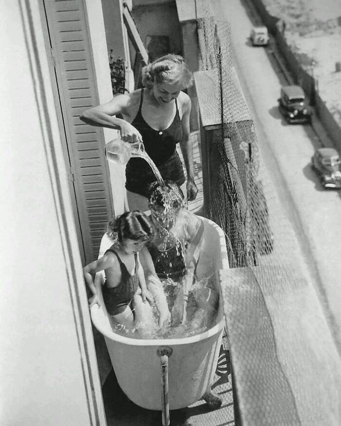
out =
[[112,240],[151,241],[154,227],[148,216],[140,210],[132,210],[108,223],[107,235]]

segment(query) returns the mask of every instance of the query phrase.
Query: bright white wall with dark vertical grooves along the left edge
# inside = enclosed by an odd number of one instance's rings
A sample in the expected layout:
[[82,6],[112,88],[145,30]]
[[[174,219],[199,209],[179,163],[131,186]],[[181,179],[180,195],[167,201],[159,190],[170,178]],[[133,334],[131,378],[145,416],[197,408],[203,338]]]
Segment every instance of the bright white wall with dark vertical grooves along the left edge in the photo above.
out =
[[0,425],[105,425],[39,3],[0,0]]

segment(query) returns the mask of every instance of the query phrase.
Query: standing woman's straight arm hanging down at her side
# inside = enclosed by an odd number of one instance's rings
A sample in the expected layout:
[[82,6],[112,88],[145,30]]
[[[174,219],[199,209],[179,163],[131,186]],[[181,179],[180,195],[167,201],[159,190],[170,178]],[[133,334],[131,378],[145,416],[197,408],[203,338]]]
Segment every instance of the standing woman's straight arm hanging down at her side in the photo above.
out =
[[187,199],[192,201],[195,199],[198,189],[194,182],[193,172],[193,145],[189,141],[190,127],[189,127],[189,116],[191,110],[190,97],[185,94],[185,102],[183,103],[183,115],[181,119],[182,125],[182,139],[180,141],[180,148],[187,172]]

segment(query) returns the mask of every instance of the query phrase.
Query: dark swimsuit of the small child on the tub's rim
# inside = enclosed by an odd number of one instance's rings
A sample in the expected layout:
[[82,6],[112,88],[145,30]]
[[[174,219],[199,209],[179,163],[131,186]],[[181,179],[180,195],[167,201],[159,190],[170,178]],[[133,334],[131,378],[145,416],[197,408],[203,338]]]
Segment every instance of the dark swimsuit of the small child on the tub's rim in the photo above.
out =
[[117,315],[121,314],[127,308],[127,306],[131,305],[133,296],[138,289],[138,260],[137,254],[135,254],[135,271],[134,275],[131,275],[128,272],[126,265],[122,262],[118,254],[113,249],[109,249],[106,251],[106,253],[107,252],[114,253],[119,261],[121,268],[121,281],[116,287],[108,287],[106,282],[104,283],[103,300],[108,314]]

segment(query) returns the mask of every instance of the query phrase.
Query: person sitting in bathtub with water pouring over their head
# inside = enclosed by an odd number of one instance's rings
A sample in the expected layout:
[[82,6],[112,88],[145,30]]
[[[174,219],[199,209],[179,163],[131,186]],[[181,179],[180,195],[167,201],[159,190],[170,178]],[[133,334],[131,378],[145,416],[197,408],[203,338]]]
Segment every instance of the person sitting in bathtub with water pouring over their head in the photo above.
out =
[[177,326],[188,319],[186,308],[189,294],[195,298],[195,303],[191,300],[190,306],[197,307],[191,318],[194,323],[197,318],[204,317],[203,306],[206,313],[208,310],[213,312],[218,302],[214,290],[200,285],[193,287],[204,224],[185,207],[184,194],[177,184],[154,182],[149,190],[149,208],[156,235],[147,243],[147,247],[158,277],[171,278],[180,283],[172,308],[172,325]]

